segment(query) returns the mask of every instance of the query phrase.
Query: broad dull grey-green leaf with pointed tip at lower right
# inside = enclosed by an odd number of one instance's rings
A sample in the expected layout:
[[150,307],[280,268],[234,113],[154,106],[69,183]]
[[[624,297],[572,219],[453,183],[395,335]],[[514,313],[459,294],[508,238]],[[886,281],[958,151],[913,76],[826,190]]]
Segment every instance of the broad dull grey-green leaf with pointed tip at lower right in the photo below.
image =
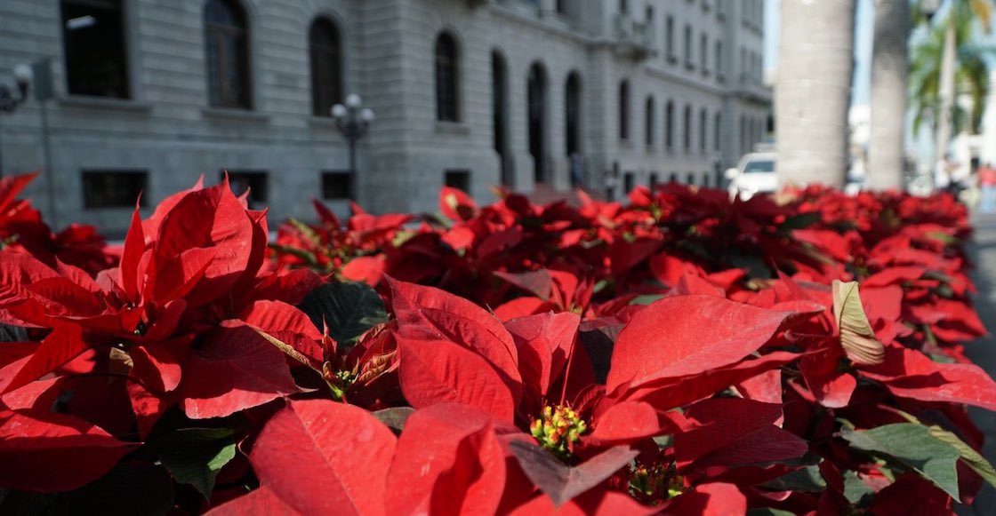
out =
[[912,423],[897,423],[871,430],[844,429],[841,434],[851,441],[852,447],[887,455],[895,461],[887,460],[890,465],[916,471],[960,501],[955,463],[961,453],[934,437],[930,429]]

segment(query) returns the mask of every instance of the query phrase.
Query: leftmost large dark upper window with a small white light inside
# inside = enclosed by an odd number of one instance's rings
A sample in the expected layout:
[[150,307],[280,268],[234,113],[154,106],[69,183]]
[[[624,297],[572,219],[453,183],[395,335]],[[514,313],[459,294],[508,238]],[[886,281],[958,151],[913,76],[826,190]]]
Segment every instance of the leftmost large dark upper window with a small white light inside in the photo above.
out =
[[69,92],[128,98],[121,0],[62,0]]

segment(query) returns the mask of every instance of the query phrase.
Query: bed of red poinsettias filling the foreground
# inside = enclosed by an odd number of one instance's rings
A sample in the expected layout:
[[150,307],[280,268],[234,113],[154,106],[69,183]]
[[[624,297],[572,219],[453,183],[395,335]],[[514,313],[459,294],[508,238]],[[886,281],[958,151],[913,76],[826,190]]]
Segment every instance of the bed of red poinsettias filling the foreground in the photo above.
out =
[[269,258],[227,184],[136,212],[95,275],[0,254],[30,336],[0,509],[951,514],[996,483],[947,196],[316,207]]

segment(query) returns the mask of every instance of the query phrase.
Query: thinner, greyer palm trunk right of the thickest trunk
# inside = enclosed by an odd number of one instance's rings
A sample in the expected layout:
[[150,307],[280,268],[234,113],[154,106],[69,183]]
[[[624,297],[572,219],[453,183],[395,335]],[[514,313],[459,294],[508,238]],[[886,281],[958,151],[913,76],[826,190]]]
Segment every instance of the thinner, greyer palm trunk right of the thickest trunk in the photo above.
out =
[[901,189],[909,70],[909,1],[875,0],[871,53],[869,179],[875,190]]

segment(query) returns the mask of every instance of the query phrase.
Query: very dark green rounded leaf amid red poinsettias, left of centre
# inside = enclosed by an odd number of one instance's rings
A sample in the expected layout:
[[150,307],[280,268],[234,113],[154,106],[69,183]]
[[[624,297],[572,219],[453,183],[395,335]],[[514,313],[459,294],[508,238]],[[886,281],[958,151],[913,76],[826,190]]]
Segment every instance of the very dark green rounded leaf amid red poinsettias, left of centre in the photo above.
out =
[[319,329],[323,321],[337,342],[348,344],[373,326],[387,321],[380,295],[367,283],[325,283],[312,290],[298,305]]

